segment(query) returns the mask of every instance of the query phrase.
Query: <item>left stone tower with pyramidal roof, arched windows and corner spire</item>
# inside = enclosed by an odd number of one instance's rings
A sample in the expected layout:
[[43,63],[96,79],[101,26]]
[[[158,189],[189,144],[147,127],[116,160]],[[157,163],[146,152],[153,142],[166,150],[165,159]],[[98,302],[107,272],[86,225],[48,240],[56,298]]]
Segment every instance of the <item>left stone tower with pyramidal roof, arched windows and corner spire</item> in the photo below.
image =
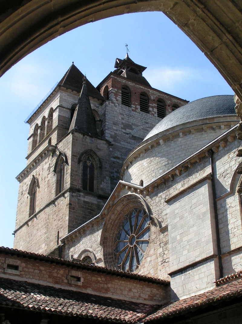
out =
[[110,193],[110,142],[100,135],[103,102],[72,64],[28,119],[27,166],[17,176],[15,248],[58,255],[60,237],[102,209]]

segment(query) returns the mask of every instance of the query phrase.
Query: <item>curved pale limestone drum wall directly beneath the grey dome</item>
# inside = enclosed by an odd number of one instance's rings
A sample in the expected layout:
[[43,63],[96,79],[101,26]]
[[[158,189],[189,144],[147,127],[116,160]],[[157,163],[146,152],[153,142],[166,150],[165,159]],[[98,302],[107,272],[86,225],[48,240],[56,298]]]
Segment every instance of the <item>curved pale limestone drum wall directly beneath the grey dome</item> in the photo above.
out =
[[[145,186],[225,132],[224,127],[213,124],[207,126],[206,131],[198,126],[191,130],[191,126],[188,123],[184,129],[167,131],[168,135],[164,132],[156,142],[140,144],[140,150],[137,147],[137,154],[133,154],[136,156],[130,155],[126,169],[123,168],[123,180],[139,184],[142,179]],[[230,124],[226,128],[230,128]]]

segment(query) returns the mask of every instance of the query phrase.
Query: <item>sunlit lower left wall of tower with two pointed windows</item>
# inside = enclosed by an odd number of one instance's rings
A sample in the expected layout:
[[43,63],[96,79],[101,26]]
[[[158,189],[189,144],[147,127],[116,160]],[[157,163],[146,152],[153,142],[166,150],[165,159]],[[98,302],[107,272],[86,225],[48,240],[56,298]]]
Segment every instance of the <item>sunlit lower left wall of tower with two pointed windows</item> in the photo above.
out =
[[[71,136],[64,138],[58,144],[53,156],[48,152],[20,180],[15,225],[15,248],[47,253],[53,246],[57,245],[56,235],[58,230],[60,237],[68,233],[69,193],[65,192],[63,195],[56,196],[54,167],[59,152],[65,153],[68,161],[65,166],[65,191],[70,187],[71,142]],[[28,191],[33,176],[38,179],[39,188],[36,191],[36,212],[29,215],[30,196]]]

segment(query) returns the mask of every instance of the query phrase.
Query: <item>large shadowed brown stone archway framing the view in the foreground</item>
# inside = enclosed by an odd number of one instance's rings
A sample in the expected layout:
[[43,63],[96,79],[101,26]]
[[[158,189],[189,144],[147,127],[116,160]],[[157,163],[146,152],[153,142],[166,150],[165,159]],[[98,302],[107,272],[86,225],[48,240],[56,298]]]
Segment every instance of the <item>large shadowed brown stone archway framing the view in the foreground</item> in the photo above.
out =
[[242,99],[240,0],[4,1],[0,15],[0,75],[65,32],[106,17],[162,11],[205,53]]

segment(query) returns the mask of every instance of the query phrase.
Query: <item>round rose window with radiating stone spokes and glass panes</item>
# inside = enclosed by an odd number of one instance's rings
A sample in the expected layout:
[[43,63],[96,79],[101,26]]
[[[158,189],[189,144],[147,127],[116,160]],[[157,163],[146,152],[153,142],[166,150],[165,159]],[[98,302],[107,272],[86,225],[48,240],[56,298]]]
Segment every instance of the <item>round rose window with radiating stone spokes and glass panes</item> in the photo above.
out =
[[117,267],[134,272],[140,265],[150,238],[150,217],[144,209],[128,212],[116,232],[114,253]]

